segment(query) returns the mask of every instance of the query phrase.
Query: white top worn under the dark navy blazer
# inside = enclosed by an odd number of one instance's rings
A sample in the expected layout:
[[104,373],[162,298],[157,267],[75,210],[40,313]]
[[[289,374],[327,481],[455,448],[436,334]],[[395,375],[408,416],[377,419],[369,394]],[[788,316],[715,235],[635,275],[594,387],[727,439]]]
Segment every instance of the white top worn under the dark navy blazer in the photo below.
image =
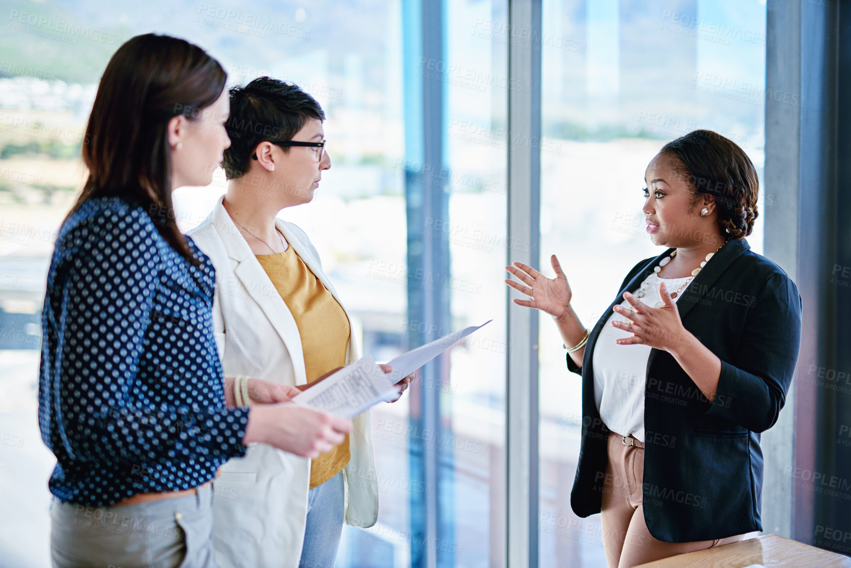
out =
[[[673,299],[676,302],[683,297],[685,289],[680,290],[680,287],[688,278],[692,277],[658,278],[655,273],[650,273],[645,279],[645,282],[650,281],[650,285],[640,300],[649,307],[654,307],[656,302],[661,301],[659,284],[664,281],[669,294],[679,290],[677,297]],[[640,287],[631,292],[635,294],[637,290],[640,290]],[[620,305],[630,307],[630,303],[625,300]],[[647,382],[647,362],[651,347],[615,343],[618,339],[632,336],[631,332],[612,325],[615,318],[617,321],[626,321],[626,318],[613,312],[594,344],[594,400],[600,417],[609,430],[624,436],[631,433],[643,442],[644,385]]]

